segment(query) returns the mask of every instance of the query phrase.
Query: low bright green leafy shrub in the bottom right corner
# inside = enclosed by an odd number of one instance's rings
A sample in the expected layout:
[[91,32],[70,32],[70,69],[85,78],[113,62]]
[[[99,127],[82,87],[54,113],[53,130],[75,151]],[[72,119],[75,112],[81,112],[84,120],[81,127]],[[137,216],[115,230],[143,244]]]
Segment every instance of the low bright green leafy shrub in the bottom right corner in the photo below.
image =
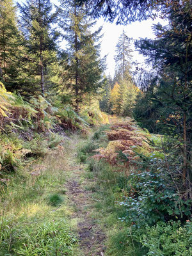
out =
[[140,239],[143,246],[148,248],[147,255],[189,256],[192,255],[191,230],[191,222],[183,227],[180,221],[158,222],[154,227],[146,226]]

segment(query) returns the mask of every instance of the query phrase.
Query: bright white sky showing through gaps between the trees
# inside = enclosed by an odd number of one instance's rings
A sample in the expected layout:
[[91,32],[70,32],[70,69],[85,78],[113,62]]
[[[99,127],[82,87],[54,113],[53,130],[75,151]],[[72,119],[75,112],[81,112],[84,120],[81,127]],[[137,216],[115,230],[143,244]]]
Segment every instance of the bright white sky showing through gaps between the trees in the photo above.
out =
[[[26,0],[15,0],[15,2],[24,3]],[[54,4],[59,4],[58,0],[51,0]],[[102,33],[104,36],[101,40],[101,50],[100,55],[101,57],[104,57],[106,55],[106,74],[113,77],[115,74],[115,48],[116,43],[118,42],[119,36],[122,34],[122,31],[124,29],[125,34],[129,38],[133,39],[139,39],[139,38],[155,38],[155,35],[153,33],[152,25],[157,24],[160,22],[161,24],[165,25],[166,21],[161,19],[156,20],[144,20],[142,22],[133,22],[132,24],[129,24],[127,26],[122,25],[116,25],[115,23],[111,24],[109,22],[105,22],[103,19],[97,20],[97,24],[93,28],[93,31],[95,31],[100,26],[103,26]],[[61,47],[65,49],[66,44],[65,42],[61,43]],[[141,65],[144,65],[144,58],[141,54],[138,54],[137,51],[135,51],[134,47],[132,46],[132,61],[137,61],[141,63]]]

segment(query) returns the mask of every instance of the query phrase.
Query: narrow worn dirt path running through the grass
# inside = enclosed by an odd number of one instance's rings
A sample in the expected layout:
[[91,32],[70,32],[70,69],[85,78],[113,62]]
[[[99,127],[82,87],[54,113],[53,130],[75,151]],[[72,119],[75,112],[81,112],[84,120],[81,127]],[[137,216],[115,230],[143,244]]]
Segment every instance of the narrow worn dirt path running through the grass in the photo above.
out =
[[[104,255],[104,232],[99,224],[93,218],[92,191],[87,188],[94,180],[86,179],[85,166],[77,163],[76,148],[78,138],[72,138],[70,141],[70,154],[68,162],[68,179],[65,188],[70,207],[74,210],[72,219],[77,223],[77,233],[79,234],[79,246],[76,256],[96,256]],[[73,221],[73,222],[74,222]]]

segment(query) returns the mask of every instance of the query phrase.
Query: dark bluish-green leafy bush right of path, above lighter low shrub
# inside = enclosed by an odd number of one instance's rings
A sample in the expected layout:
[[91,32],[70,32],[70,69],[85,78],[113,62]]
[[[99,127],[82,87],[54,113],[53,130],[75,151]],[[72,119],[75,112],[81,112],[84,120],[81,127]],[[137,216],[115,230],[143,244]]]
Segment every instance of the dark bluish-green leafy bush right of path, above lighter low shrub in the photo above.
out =
[[119,204],[126,207],[123,220],[138,227],[154,225],[157,221],[189,218],[191,200],[184,201],[174,188],[166,186],[161,173],[132,173],[127,184],[129,196]]

